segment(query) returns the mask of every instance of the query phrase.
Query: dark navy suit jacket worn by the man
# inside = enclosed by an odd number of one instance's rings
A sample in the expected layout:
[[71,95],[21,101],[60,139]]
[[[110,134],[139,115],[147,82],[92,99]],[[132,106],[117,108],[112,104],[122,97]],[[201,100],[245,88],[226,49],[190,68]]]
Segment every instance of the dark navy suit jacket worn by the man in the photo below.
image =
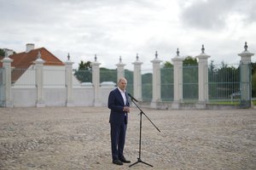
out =
[[123,109],[125,105],[130,106],[130,104],[126,93],[125,96],[126,104],[124,103],[124,99],[118,88],[113,89],[108,95],[108,108],[111,110],[109,116],[110,123],[128,122],[128,114],[126,113],[125,117],[125,111],[123,111]]

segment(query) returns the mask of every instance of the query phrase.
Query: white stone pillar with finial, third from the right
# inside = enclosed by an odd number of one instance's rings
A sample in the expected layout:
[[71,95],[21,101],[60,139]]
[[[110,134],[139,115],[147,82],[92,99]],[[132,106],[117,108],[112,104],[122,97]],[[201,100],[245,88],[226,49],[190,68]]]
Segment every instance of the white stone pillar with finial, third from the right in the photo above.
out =
[[183,101],[183,60],[184,58],[179,56],[177,48],[177,56],[172,59],[174,90],[172,109],[179,109],[179,105]]

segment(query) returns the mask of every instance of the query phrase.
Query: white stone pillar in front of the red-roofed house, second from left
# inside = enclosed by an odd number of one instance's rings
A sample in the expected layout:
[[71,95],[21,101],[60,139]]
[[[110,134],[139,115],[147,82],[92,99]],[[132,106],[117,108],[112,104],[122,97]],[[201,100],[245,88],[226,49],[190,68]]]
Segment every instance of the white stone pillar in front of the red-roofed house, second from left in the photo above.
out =
[[41,59],[40,51],[38,59],[34,62],[36,68],[37,107],[44,107],[44,60]]

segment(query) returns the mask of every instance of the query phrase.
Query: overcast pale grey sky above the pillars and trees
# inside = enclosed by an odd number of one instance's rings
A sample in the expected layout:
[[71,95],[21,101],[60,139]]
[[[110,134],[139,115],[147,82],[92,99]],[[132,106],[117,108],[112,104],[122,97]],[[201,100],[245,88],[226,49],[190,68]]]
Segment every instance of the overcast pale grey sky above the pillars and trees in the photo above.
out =
[[[139,55],[150,68],[155,51],[171,61],[201,54],[210,60],[238,62],[237,55],[256,53],[254,0],[0,0],[0,48],[25,51],[26,43],[47,48],[62,61],[93,61],[125,68]],[[256,56],[253,56],[255,61]]]

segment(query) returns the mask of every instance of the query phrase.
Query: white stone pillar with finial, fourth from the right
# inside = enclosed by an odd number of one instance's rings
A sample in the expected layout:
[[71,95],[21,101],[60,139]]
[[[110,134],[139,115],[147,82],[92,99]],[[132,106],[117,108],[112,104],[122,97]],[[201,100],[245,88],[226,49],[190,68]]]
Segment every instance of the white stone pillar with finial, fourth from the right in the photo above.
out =
[[151,61],[153,63],[153,76],[152,76],[152,100],[151,108],[157,108],[157,103],[161,101],[161,80],[160,80],[160,62],[158,54],[155,52],[155,58]]

